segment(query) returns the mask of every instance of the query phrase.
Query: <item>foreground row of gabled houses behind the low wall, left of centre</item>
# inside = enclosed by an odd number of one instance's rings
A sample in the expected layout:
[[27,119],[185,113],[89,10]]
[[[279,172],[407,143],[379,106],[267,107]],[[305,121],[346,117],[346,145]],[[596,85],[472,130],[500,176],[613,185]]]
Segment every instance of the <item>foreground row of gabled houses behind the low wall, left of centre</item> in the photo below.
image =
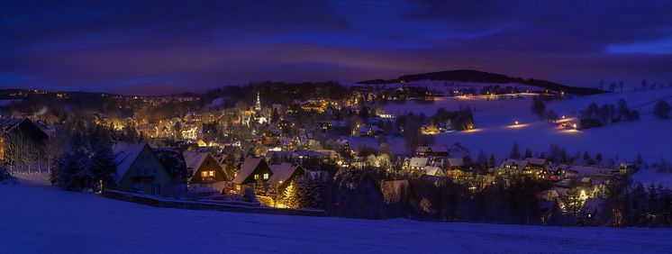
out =
[[[149,195],[178,196],[186,193],[219,195],[242,193],[251,187],[272,186],[284,191],[295,177],[304,175],[298,163],[269,164],[265,158],[248,156],[240,169],[224,170],[226,155],[209,151],[151,148],[144,142],[114,145],[117,165],[115,189]],[[227,176],[226,172],[235,172]]]

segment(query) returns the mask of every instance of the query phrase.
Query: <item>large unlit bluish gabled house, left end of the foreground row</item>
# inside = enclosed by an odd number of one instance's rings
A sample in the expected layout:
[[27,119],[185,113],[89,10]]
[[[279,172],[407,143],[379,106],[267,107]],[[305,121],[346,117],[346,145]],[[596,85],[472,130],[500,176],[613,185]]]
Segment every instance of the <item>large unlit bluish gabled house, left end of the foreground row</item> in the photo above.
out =
[[117,143],[113,147],[117,165],[116,189],[150,195],[170,195],[173,178],[147,143]]

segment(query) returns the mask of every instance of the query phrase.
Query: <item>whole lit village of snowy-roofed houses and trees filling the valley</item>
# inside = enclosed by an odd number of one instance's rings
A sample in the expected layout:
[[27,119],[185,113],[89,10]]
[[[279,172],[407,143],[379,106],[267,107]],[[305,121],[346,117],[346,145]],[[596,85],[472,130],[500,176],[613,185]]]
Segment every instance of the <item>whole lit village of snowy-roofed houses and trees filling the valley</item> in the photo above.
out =
[[[482,90],[459,91],[454,86],[446,86],[449,96],[457,98],[483,96],[485,100],[506,100],[565,95],[564,92],[517,87],[486,86]],[[549,151],[523,152],[517,143],[512,144],[508,158],[480,152],[472,159],[468,148],[459,143],[440,144],[431,139],[438,132],[473,131],[477,123],[468,109],[439,110],[428,117],[394,115],[377,107],[377,101],[443,96],[431,89],[419,92],[415,86],[400,86],[395,88],[395,96],[390,97],[386,88],[339,86],[344,95],[338,99],[322,95],[290,104],[268,104],[262,100],[265,96],[261,93],[268,86],[247,88],[253,95],[253,101],[247,104],[239,101],[234,107],[225,107],[219,98],[200,110],[193,106],[202,100],[197,95],[102,95],[141,105],[141,110],[134,109],[131,117],[92,113],[90,121],[76,120],[70,123],[74,125],[69,125],[79,126],[74,129],[81,133],[75,136],[83,135],[78,139],[91,143],[88,146],[88,150],[94,150],[91,154],[95,153],[98,145],[95,142],[100,138],[96,135],[110,139],[106,145],[114,157],[112,177],[78,179],[78,184],[61,179],[65,175],[77,175],[77,172],[63,172],[79,167],[79,162],[68,166],[70,162],[64,161],[67,160],[64,157],[77,154],[72,151],[73,142],[82,141],[74,141],[77,138],[72,134],[63,134],[68,127],[53,121],[51,118],[55,115],[22,117],[14,113],[12,117],[4,117],[0,122],[4,137],[2,159],[13,172],[47,171],[44,173],[50,175],[53,185],[66,189],[108,190],[220,204],[243,202],[274,209],[322,209],[333,215],[368,218],[463,220],[440,212],[454,207],[439,208],[445,201],[441,199],[450,197],[436,200],[437,190],[432,188],[459,186],[465,193],[452,198],[468,203],[489,189],[504,187],[508,191],[511,186],[522,185],[530,192],[525,193],[530,199],[525,202],[533,200],[534,203],[533,213],[527,215],[525,221],[546,224],[554,215],[570,214],[574,223],[595,225],[619,223],[613,219],[617,212],[602,209],[602,204],[613,195],[609,189],[627,181],[641,164],[640,161],[607,161],[601,154],[592,158],[586,153],[580,158],[552,145]],[[455,93],[457,91],[459,93]],[[72,96],[55,95],[56,100]],[[189,104],[182,107],[196,110],[171,118],[152,116],[148,110],[176,104]],[[116,106],[123,109],[124,103]],[[563,120],[564,116],[553,122],[565,124],[567,121]],[[513,126],[518,124],[514,122]],[[576,123],[565,125],[577,129]],[[98,132],[104,134],[96,134]],[[386,138],[392,136],[403,137],[408,152],[394,152],[386,143]],[[370,139],[380,145],[351,146],[351,137]],[[35,161],[38,163],[33,163]],[[81,186],[82,181],[88,182]],[[353,196],[342,197],[342,188],[351,189],[348,195]],[[347,203],[344,200],[351,204],[343,204]],[[352,209],[364,211],[350,211]]]

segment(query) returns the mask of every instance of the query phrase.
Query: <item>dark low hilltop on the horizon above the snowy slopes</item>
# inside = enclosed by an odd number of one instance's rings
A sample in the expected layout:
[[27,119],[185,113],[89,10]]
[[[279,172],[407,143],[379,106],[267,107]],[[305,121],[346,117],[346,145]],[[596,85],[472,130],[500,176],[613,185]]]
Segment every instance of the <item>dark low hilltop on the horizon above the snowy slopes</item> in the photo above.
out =
[[359,82],[359,84],[377,85],[377,84],[390,84],[390,83],[427,80],[427,79],[443,80],[443,81],[462,81],[473,83],[493,83],[493,84],[519,83],[529,86],[538,86],[541,88],[549,89],[551,91],[564,91],[565,93],[574,95],[595,95],[605,93],[605,91],[596,88],[565,86],[546,80],[533,79],[533,78],[524,79],[522,77],[508,77],[503,74],[495,74],[471,69],[458,69],[458,70],[447,70],[447,71],[430,72],[422,74],[404,75],[401,77],[397,77],[395,79],[387,79],[387,80],[374,79],[374,80],[361,81]]

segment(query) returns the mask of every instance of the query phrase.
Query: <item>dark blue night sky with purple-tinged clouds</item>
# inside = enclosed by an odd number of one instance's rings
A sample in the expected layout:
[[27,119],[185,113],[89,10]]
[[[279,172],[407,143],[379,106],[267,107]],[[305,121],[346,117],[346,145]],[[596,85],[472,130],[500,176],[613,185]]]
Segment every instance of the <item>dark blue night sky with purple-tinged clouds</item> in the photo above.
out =
[[456,68],[667,84],[672,2],[0,3],[1,87],[165,94]]

